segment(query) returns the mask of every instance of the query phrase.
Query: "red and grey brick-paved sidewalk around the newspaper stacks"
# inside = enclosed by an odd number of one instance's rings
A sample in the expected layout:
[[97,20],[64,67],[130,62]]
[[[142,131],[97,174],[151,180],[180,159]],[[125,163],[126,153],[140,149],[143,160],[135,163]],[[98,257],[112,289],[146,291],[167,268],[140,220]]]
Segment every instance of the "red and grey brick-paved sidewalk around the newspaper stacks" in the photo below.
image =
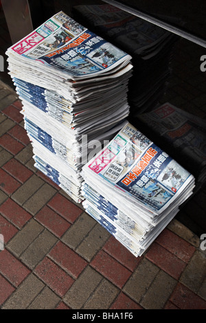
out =
[[34,168],[21,102],[3,82],[0,100],[1,309],[206,309],[199,237],[174,219],[135,258]]

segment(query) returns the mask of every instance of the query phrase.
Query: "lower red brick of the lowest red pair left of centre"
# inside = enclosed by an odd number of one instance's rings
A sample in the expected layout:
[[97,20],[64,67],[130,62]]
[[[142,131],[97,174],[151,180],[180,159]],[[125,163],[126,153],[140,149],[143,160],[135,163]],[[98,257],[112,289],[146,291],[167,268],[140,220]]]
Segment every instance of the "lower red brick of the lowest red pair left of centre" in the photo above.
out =
[[64,296],[74,282],[73,278],[47,257],[34,272],[59,296]]

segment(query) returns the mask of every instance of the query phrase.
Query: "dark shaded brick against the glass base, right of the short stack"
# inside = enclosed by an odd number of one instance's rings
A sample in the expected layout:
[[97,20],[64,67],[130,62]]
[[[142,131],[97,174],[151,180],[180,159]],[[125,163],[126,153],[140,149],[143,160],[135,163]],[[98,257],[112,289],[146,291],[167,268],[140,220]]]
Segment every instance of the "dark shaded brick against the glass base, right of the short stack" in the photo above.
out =
[[190,229],[185,227],[182,223],[177,221],[176,219],[173,219],[170,224],[168,225],[168,229],[177,234],[178,236],[181,236],[185,241],[190,243],[191,245],[194,245],[194,247],[198,247],[199,245],[199,238],[194,234]]

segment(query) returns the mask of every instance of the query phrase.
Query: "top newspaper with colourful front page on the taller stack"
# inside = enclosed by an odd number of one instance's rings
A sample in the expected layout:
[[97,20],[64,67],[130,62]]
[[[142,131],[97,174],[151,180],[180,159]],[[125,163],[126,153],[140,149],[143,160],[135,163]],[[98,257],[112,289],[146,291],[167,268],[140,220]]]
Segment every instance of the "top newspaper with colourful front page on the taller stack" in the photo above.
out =
[[[58,12],[6,52],[19,57],[23,65],[30,59],[36,66],[67,79],[99,76],[115,67],[124,67],[130,56],[100,36],[87,30],[64,12]],[[30,68],[28,67],[28,68]],[[62,74],[66,74],[63,76]]]

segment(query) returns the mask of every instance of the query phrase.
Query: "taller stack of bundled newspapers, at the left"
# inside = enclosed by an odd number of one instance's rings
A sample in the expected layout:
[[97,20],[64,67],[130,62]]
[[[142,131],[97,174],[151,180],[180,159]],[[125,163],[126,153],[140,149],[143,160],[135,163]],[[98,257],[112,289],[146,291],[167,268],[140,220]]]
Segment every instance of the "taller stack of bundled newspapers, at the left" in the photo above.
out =
[[109,139],[128,116],[131,56],[64,12],[6,54],[35,166],[82,201],[80,170],[88,144]]

